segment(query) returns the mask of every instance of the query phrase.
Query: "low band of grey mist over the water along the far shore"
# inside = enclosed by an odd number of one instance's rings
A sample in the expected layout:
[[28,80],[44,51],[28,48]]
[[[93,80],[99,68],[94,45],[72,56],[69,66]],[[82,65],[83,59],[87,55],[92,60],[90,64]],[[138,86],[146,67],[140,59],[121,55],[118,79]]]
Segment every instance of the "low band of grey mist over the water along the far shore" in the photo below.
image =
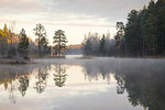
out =
[[114,58],[94,57],[92,59],[80,59],[79,57],[67,57],[66,59],[34,59],[35,64],[30,65],[2,65],[0,72],[31,73],[34,68],[42,68],[50,65],[80,65],[87,73],[164,73],[165,59],[143,58]]

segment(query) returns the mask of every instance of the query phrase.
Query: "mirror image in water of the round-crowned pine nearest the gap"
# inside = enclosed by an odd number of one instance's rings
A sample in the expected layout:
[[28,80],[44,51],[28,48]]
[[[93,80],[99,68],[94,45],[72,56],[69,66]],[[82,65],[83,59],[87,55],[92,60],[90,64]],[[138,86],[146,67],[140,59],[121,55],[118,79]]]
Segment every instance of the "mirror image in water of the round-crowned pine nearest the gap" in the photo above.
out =
[[53,75],[54,75],[55,85],[57,87],[65,86],[65,81],[66,81],[66,77],[67,77],[66,65],[62,65],[62,64],[54,65],[54,70],[55,70],[55,73]]

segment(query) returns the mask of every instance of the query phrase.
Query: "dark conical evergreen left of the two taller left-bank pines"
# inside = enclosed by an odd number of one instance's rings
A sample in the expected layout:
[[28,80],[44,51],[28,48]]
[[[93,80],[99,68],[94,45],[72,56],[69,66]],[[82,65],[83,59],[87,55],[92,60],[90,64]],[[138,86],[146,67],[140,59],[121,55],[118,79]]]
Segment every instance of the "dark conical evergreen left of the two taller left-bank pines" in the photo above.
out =
[[28,55],[29,55],[29,38],[25,34],[24,29],[21,30],[20,32],[20,43],[19,43],[19,54],[21,55],[21,57],[23,57],[24,59],[28,59]]

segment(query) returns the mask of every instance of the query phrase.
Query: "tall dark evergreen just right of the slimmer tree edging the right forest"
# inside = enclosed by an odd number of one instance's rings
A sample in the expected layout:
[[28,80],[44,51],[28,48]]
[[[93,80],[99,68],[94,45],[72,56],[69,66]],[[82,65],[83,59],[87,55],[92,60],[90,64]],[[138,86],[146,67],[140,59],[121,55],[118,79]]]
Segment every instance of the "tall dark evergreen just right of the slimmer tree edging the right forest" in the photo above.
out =
[[142,37],[139,12],[132,10],[128,15],[128,24],[125,28],[125,44],[130,55],[141,55]]

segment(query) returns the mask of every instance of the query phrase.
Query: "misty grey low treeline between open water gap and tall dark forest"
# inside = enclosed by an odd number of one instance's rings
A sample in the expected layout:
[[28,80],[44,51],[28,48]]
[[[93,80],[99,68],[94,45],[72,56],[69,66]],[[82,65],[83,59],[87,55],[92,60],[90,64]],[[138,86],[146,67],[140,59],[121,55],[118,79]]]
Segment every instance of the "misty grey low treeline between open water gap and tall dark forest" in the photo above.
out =
[[99,35],[88,33],[82,42],[84,55],[112,56],[114,55],[114,40],[110,34]]

